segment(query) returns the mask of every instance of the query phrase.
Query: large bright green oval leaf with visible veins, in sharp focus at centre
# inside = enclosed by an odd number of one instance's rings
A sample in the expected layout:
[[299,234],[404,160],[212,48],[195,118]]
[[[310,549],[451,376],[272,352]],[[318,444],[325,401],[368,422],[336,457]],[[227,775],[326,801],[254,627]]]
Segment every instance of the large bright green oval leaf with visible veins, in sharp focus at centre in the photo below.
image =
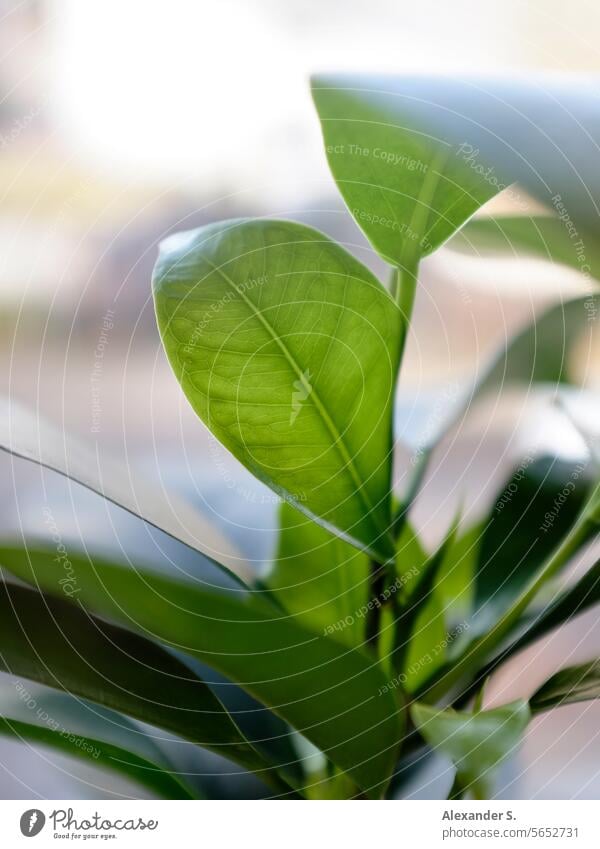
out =
[[390,523],[398,309],[326,236],[217,222],[167,239],[158,325],[192,407],[285,500],[381,560]]

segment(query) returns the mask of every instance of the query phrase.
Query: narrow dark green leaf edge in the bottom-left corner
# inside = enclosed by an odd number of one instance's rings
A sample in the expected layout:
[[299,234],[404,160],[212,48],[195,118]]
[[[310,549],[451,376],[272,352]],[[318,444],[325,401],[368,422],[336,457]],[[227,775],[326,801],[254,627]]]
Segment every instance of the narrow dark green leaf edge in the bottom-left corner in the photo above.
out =
[[0,734],[24,743],[48,746],[60,754],[124,775],[148,788],[160,799],[196,798],[175,775],[163,767],[104,740],[72,734],[66,729],[54,731],[6,716],[0,716]]

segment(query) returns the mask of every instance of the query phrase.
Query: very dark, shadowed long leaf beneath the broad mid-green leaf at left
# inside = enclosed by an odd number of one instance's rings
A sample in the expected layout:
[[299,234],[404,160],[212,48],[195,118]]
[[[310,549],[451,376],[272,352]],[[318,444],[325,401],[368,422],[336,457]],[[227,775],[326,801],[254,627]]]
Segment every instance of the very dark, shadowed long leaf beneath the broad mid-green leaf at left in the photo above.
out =
[[[31,552],[31,557],[39,565],[54,554]],[[3,549],[0,563],[12,563],[15,572],[32,580],[22,550]],[[56,571],[48,574],[49,591],[59,591],[60,577]],[[0,668],[168,729],[258,771],[265,780],[276,778],[189,667],[160,645],[72,602],[0,584]]]

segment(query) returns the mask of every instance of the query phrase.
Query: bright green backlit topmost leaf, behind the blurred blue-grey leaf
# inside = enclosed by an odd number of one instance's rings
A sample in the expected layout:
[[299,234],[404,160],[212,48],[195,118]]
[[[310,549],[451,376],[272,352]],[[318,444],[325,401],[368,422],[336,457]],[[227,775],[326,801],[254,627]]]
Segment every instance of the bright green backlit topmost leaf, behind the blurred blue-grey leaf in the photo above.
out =
[[312,93],[329,167],[350,212],[381,256],[406,268],[499,187],[465,162],[446,134],[423,131],[402,85],[317,76]]

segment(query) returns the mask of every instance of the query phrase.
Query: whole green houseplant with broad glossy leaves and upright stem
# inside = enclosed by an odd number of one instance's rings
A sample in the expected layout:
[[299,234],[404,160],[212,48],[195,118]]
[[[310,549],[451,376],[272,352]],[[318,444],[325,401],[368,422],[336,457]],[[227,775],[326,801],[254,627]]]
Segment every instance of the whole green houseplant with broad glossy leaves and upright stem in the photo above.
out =
[[[415,85],[420,98],[411,94]],[[394,395],[419,262],[448,240],[472,250],[497,237],[502,222],[470,221],[473,213],[514,179],[543,195],[544,168],[556,164],[537,124],[523,134],[520,118],[509,121],[503,146],[494,132],[503,108],[486,112],[466,84],[440,84],[439,92],[427,84],[437,100],[423,96],[423,85],[313,84],[333,177],[389,264],[389,286],[340,244],[292,221],[216,222],[161,248],[154,299],[175,375],[207,427],[282,500],[266,578],[259,581],[206,522],[186,513],[182,531],[183,507],[168,514],[150,493],[143,504],[132,499],[118,469],[108,476],[104,469],[104,480],[93,472],[84,447],[73,448],[67,468],[54,450],[63,434],[40,434],[12,406],[3,416],[6,450],[200,551],[224,586],[106,562],[94,552],[70,556],[65,583],[53,549],[6,541],[2,567],[31,588],[4,583],[2,669],[222,754],[256,773],[265,794],[393,796],[419,753],[433,747],[455,764],[453,798],[485,798],[534,714],[600,696],[590,663],[559,672],[531,697],[482,706],[497,667],[599,599],[599,563],[567,588],[556,580],[598,536],[593,445],[590,461],[577,468],[557,457],[522,464],[481,524],[464,527],[457,516],[434,551],[410,522],[433,452],[480,396],[538,382],[558,392],[574,380],[565,352],[596,322],[598,296],[552,307],[509,340],[469,390],[445,404],[442,425],[405,471],[403,493],[393,491]],[[551,108],[536,90],[517,89],[514,97],[538,118]],[[458,101],[467,104],[459,112]],[[561,173],[561,196],[592,234],[577,181]],[[550,239],[549,256],[577,266],[560,215],[536,220],[511,217],[507,233],[537,252],[540,239]],[[595,238],[589,235],[590,268]],[[266,708],[277,729],[270,741],[242,730],[200,677],[198,661]],[[161,795],[202,792],[139,726],[131,741],[141,749],[129,759],[121,756],[123,740],[69,736],[31,717],[5,716],[0,732],[80,757],[91,749],[99,763]]]

